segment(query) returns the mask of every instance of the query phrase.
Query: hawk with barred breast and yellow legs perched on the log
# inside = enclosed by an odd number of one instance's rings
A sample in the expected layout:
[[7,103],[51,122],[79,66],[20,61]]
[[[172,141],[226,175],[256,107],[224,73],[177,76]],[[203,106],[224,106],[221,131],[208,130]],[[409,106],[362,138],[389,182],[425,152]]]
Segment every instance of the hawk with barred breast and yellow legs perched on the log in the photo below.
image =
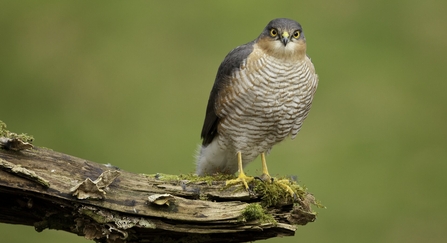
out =
[[[298,134],[318,85],[299,23],[274,19],[257,39],[233,49],[217,71],[202,128],[196,174],[234,174],[261,155],[262,176],[271,180],[265,154]],[[290,188],[289,188],[290,189]]]

